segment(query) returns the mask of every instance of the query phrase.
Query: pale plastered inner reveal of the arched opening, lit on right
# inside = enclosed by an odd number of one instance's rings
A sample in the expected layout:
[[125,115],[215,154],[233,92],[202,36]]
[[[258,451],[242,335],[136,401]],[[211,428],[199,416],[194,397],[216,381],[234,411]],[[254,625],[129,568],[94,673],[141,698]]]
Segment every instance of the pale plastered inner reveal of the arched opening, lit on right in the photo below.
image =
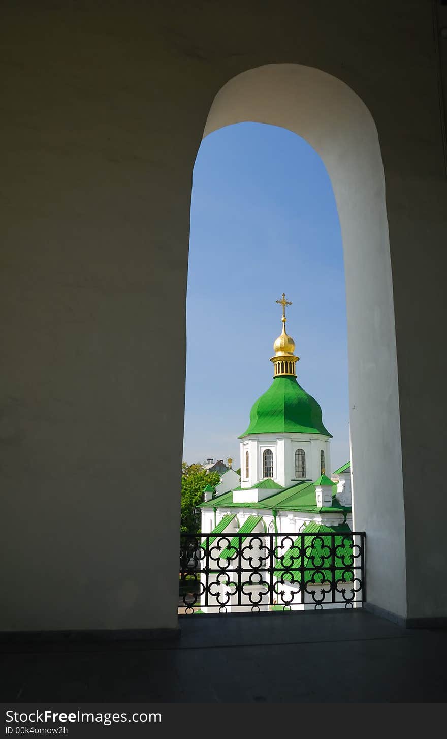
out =
[[303,137],[320,154],[332,182],[347,287],[354,525],[367,531],[369,601],[406,616],[395,319],[375,123],[349,86],[299,64],[250,69],[225,84],[211,106],[205,136],[244,121],[282,126]]

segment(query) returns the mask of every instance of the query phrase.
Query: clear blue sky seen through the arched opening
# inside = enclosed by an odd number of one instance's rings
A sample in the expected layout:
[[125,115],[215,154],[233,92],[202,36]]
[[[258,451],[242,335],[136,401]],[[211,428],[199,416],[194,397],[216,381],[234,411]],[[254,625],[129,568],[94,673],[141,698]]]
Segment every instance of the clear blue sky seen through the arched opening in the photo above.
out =
[[349,459],[341,231],[319,155],[285,129],[238,123],[202,141],[194,166],[183,460],[233,457],[270,386],[273,341],[296,342],[298,382],[332,433],[332,469]]

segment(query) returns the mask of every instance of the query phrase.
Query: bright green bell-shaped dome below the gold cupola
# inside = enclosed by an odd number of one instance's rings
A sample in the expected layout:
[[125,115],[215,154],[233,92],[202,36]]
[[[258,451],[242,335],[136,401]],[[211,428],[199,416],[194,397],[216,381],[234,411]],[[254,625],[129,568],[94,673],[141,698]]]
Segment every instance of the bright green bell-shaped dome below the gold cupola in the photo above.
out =
[[239,436],[298,432],[332,437],[323,425],[321,408],[294,377],[276,377],[250,411],[250,425]]

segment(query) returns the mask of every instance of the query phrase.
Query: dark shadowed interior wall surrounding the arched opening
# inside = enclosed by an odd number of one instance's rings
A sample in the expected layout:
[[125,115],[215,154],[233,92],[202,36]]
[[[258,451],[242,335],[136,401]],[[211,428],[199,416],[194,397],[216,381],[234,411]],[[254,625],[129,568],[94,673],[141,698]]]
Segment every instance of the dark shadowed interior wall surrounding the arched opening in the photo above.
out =
[[[177,624],[192,170],[216,94],[270,64],[338,78],[377,127],[395,304],[406,615],[446,615],[439,264],[447,187],[431,13],[422,0],[4,3],[1,629]],[[369,294],[369,274],[363,279]],[[395,454],[386,419],[383,428],[370,449],[378,470]],[[388,494],[397,508],[399,474],[386,483],[378,476],[388,485],[380,500]],[[428,500],[436,516],[421,514]],[[377,505],[365,528],[377,531],[393,505]],[[400,593],[403,579],[389,587]]]

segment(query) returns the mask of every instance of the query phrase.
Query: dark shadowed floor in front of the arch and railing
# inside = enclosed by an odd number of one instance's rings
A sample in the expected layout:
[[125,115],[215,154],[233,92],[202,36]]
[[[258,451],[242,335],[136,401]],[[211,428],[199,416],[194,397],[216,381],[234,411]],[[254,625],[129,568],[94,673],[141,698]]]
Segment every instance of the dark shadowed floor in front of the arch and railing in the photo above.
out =
[[4,702],[447,701],[447,631],[364,610],[181,616],[171,642],[2,645]]

